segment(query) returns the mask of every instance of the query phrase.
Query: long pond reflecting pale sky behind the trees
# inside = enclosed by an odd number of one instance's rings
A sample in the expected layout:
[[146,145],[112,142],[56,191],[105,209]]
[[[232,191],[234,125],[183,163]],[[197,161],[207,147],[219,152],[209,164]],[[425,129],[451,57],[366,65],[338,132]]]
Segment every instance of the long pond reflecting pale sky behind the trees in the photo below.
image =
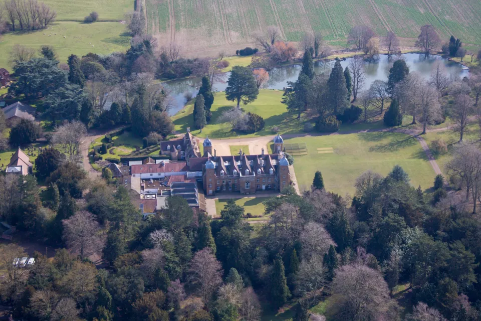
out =
[[[430,55],[426,57],[424,54],[402,54],[403,59],[409,66],[410,72],[417,72],[428,79],[432,70],[435,68],[434,63],[438,60],[442,61],[445,72],[450,74],[452,72],[459,73],[461,78],[468,74],[468,70],[463,70],[464,66],[459,63],[448,61],[441,56]],[[347,58],[341,61],[341,66],[346,68],[353,58]],[[380,55],[375,62],[364,62],[364,70],[366,80],[364,81],[363,89],[369,88],[374,80],[387,81],[389,69],[392,67],[393,61],[387,55]],[[316,61],[314,69],[316,73],[330,72],[334,61],[322,62]],[[300,65],[289,65],[273,68],[269,72],[269,81],[263,86],[263,89],[280,89],[287,87],[288,81],[296,81],[301,72]],[[226,81],[229,73],[224,74]],[[226,82],[216,82],[212,86],[213,91],[223,91],[227,87]],[[169,110],[170,115],[174,115],[182,109],[186,103],[184,94],[189,92],[192,97],[195,97],[200,87],[200,78],[188,78],[184,80],[174,80],[164,83],[165,87],[170,90],[170,94],[174,98],[173,106]]]

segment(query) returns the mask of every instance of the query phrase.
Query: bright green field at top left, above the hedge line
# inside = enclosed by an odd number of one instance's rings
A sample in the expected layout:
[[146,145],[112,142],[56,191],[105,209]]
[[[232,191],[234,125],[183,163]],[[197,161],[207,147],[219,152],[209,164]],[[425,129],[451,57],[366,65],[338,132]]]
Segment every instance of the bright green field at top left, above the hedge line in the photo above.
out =
[[125,14],[134,10],[131,0],[45,0],[51,9],[57,12],[57,20],[83,21],[92,11],[99,14],[99,21],[125,20]]

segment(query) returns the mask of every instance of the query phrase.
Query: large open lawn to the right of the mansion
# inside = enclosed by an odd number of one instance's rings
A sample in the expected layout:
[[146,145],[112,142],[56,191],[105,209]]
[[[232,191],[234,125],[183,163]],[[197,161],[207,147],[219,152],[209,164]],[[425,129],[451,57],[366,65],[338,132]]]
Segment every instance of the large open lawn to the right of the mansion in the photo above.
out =
[[[345,196],[355,193],[355,181],[363,172],[372,170],[387,175],[400,165],[414,187],[432,186],[435,174],[416,139],[401,133],[369,132],[285,139],[284,143],[305,142],[308,154],[294,156],[294,168],[300,188],[312,184],[316,171],[321,171],[326,190]],[[325,152],[332,147],[333,152]],[[324,148],[318,153],[317,148]]]

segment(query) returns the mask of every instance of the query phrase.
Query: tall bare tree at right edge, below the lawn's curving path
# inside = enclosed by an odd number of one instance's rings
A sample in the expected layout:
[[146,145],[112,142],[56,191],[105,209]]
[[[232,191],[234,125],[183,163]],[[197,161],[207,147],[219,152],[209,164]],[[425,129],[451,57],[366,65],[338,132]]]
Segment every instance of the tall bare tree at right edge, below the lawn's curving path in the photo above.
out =
[[466,202],[469,193],[473,198],[473,213],[476,213],[478,186],[481,183],[481,151],[474,144],[462,143],[454,153],[454,157],[446,165],[451,176],[461,179],[466,189]]

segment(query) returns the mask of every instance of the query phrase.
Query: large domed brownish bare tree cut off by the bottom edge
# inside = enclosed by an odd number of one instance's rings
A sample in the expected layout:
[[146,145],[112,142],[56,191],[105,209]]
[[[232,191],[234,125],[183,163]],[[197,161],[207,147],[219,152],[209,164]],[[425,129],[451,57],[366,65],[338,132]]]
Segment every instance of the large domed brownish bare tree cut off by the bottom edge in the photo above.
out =
[[365,265],[336,271],[327,311],[338,321],[389,319],[391,299],[382,275]]

